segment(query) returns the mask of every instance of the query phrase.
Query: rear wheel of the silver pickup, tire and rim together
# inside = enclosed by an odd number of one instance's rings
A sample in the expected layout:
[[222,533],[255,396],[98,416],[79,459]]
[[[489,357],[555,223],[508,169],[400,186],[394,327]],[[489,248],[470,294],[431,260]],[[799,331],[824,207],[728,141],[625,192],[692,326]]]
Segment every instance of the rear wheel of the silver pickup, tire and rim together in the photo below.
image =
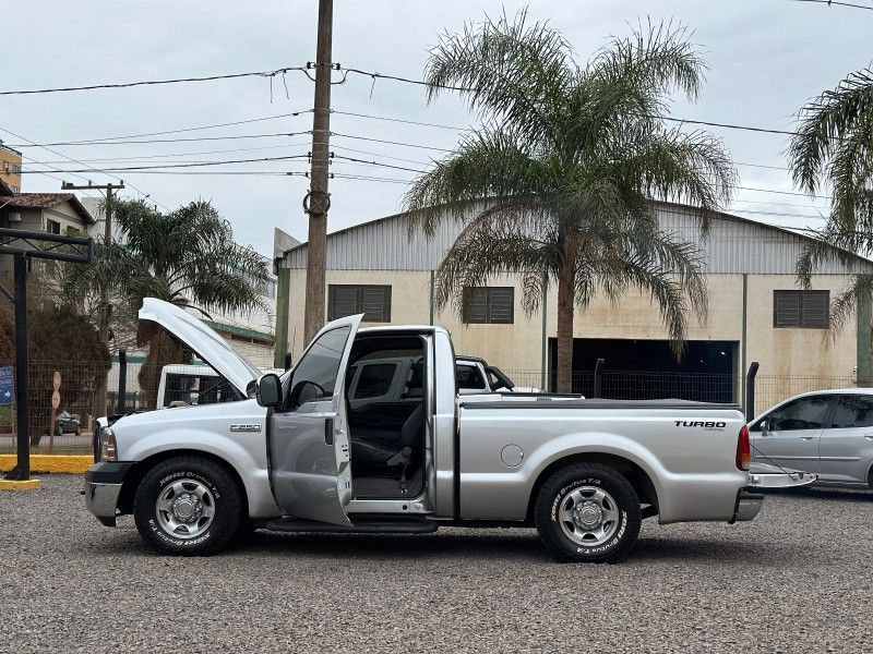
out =
[[631,483],[597,463],[567,465],[550,476],[537,496],[535,519],[555,560],[590,564],[624,558],[643,522]]

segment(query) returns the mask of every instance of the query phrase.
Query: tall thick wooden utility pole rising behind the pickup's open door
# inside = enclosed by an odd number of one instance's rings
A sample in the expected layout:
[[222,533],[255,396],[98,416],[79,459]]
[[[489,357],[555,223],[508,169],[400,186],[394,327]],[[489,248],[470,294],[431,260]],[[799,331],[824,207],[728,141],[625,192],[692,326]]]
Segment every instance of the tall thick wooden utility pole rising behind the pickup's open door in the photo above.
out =
[[[306,342],[324,325],[325,268],[327,250],[328,149],[331,137],[331,71],[333,70],[333,0],[319,0],[319,38],[315,51],[315,104],[312,112],[312,165],[309,193],[303,210],[309,214],[307,246],[307,300],[303,317]],[[309,64],[308,64],[309,65]]]

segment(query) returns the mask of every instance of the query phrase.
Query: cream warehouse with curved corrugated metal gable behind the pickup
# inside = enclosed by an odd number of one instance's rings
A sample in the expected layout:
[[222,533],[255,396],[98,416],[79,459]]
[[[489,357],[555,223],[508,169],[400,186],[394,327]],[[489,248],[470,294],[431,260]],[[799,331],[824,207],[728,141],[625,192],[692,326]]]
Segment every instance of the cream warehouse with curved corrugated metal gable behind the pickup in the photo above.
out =
[[[873,272],[873,262],[835,257],[817,267],[810,290],[800,290],[794,265],[806,237],[720,214],[702,240],[687,207],[659,204],[658,215],[663,230],[701,243],[708,314],[690,318],[686,353],[678,361],[647,295],[631,291],[615,304],[596,299],[575,316],[574,390],[590,392],[598,359],[603,359],[605,397],[740,401],[752,361],[761,364],[758,397],[765,403],[811,388],[870,385],[870,306],[861,306],[836,338],[827,326],[830,300],[854,275]],[[325,315],[366,313],[366,324],[373,326],[441,325],[451,330],[458,353],[485,358],[517,384],[553,388],[553,284],[535,315],[522,308],[521,280],[514,277],[471,289],[468,315],[434,306],[434,270],[461,229],[446,218],[428,239],[410,234],[408,216],[398,214],[330,234]],[[286,351],[296,359],[306,346],[306,262],[304,243],[277,258],[276,365]]]

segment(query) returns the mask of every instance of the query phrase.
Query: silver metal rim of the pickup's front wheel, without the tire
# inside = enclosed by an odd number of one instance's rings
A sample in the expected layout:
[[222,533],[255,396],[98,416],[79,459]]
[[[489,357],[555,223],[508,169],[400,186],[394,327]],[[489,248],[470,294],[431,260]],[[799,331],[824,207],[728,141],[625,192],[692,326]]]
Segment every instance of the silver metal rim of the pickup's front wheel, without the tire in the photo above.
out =
[[166,486],[155,502],[157,522],[176,538],[195,538],[215,518],[215,498],[201,482],[183,479]]

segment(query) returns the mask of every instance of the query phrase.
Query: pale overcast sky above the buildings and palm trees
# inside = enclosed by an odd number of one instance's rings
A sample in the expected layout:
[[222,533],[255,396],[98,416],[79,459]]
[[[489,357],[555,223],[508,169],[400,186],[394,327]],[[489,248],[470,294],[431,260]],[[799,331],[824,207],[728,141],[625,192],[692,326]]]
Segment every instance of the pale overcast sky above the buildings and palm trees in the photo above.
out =
[[[866,2],[868,0],[864,0]],[[873,2],[870,2],[873,4]],[[529,5],[534,19],[549,20],[573,44],[584,62],[609,36],[625,35],[648,17],[686,25],[709,64],[696,105],[677,102],[673,116],[725,123],[790,129],[797,109],[848,72],[865,68],[873,56],[873,11],[791,0],[336,0],[334,61],[406,77],[421,77],[427,48],[439,34],[459,29],[465,21],[502,7],[513,14]],[[168,77],[274,70],[314,59],[316,0],[39,0],[3,7],[3,55],[0,90],[86,85]],[[0,96],[0,129],[37,143],[143,134],[215,123],[244,121],[307,110],[312,83],[301,73],[282,77],[176,84],[49,95]],[[456,98],[444,96],[427,106],[420,86],[349,76],[333,87],[337,111],[403,120],[469,125],[473,117]],[[311,129],[311,113],[236,126],[198,130],[167,136],[217,137]],[[451,148],[452,129],[332,117],[332,131]],[[785,136],[713,129],[738,162],[785,166]],[[47,166],[27,169],[82,168],[56,153],[24,147],[8,132],[0,138],[21,145],[25,156]],[[192,141],[181,143],[58,146],[52,149],[88,167],[142,166],[306,155],[308,136]],[[258,148],[258,149],[251,149]],[[240,150],[216,153],[214,150]],[[436,149],[335,137],[337,155],[378,159],[420,168]],[[366,150],[367,154],[354,150]],[[208,154],[206,154],[208,153]],[[181,156],[184,155],[184,156]],[[96,159],[124,158],[118,161]],[[147,157],[147,158],[144,158]],[[404,161],[407,160],[407,161]],[[236,164],[201,170],[298,171],[306,159]],[[412,172],[335,161],[335,173],[410,180]],[[188,169],[188,170],[198,170]],[[742,185],[793,191],[785,171],[739,166]],[[176,207],[195,198],[211,199],[234,226],[237,240],[272,253],[273,228],[306,239],[301,201],[307,180],[278,175],[182,175],[119,172],[129,184],[150,194],[150,202]],[[82,182],[71,174],[56,177]],[[112,181],[104,173],[83,177]],[[25,174],[22,191],[58,191],[60,182],[45,174]],[[390,215],[400,208],[404,183],[334,179],[328,230]],[[135,197],[133,189],[128,195]],[[749,218],[786,226],[821,226],[822,201],[738,191],[731,210]],[[758,204],[761,203],[761,204]],[[780,204],[772,204],[780,203]],[[773,216],[769,214],[778,214]],[[809,217],[804,217],[809,216]]]

